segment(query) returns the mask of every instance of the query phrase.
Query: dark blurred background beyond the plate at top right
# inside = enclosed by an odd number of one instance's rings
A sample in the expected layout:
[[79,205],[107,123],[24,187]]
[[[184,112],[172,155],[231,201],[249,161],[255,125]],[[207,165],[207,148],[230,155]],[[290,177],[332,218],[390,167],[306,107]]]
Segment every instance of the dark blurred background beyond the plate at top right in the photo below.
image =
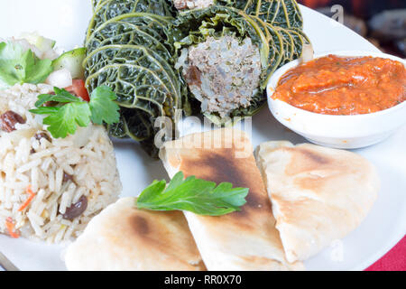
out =
[[[343,7],[343,24],[380,50],[406,58],[406,0],[298,0],[329,17]],[[332,8],[333,7],[333,8]],[[338,7],[339,8],[339,7]]]

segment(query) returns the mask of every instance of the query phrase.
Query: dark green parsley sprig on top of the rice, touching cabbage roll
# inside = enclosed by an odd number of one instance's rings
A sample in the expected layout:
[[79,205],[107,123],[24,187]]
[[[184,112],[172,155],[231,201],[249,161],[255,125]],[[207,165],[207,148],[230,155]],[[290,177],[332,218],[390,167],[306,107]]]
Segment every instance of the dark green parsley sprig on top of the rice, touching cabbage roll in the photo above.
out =
[[43,119],[43,124],[48,125],[47,129],[54,138],[73,135],[78,126],[86,127],[90,122],[113,125],[119,121],[117,97],[107,86],[93,90],[90,101],[73,96],[65,89],[54,88],[54,92],[55,95],[38,96],[37,108],[30,110],[33,114],[49,115]]

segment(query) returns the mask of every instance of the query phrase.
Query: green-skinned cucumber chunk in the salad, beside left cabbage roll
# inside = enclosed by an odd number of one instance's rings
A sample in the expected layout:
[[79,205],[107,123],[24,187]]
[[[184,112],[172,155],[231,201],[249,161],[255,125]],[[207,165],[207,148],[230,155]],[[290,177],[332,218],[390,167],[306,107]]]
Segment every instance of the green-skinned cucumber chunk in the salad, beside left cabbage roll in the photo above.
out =
[[73,51],[67,51],[59,58],[52,61],[54,70],[67,69],[70,71],[72,79],[85,79],[85,70],[82,62],[86,57],[86,48],[81,47]]

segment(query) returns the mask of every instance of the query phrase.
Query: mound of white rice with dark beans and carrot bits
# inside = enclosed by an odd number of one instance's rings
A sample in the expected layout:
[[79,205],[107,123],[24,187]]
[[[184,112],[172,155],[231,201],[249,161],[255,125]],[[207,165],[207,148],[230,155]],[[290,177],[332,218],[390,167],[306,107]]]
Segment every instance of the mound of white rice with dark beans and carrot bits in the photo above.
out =
[[[118,200],[122,185],[105,127],[90,125],[55,139],[42,126],[42,117],[28,111],[39,94],[51,91],[45,84],[0,91],[0,115],[12,110],[26,121],[11,133],[0,131],[0,233],[10,234],[6,223],[12,220],[20,237],[60,243],[77,238],[90,219]],[[39,133],[46,133],[51,142],[46,137],[37,140],[34,135]],[[73,181],[64,182],[65,173]],[[35,196],[21,210],[29,187]],[[88,200],[87,209],[64,219],[81,196]]]

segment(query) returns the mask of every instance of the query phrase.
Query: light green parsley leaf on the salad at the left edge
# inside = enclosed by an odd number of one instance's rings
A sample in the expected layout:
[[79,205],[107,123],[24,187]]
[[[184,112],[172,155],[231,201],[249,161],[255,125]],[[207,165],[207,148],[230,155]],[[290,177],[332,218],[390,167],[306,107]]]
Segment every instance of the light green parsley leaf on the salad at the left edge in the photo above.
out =
[[14,84],[42,83],[53,71],[51,60],[39,59],[18,43],[0,43],[0,89]]

